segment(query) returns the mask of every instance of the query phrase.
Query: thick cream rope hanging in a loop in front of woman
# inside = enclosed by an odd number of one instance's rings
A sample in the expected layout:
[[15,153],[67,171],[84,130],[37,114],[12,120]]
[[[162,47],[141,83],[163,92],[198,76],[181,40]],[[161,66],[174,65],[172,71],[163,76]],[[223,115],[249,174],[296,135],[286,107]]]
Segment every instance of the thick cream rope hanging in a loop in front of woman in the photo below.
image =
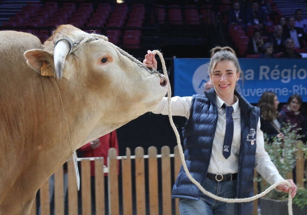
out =
[[[165,61],[163,59],[162,53],[158,50],[153,50],[152,52],[159,55],[159,57],[161,59],[161,63],[162,63],[163,73],[164,73],[165,76],[167,76],[167,70],[166,70]],[[181,163],[183,165],[183,168],[185,170],[185,173],[187,174],[187,176],[191,180],[191,182],[193,182],[198,187],[198,189],[200,191],[202,191],[204,194],[206,194],[206,195],[210,196],[211,198],[218,200],[218,201],[223,201],[223,202],[227,202],[227,203],[239,203],[239,202],[241,203],[241,202],[249,202],[249,201],[259,199],[260,197],[266,195],[267,193],[269,193],[269,191],[273,190],[275,187],[277,187],[278,185],[280,185],[282,183],[286,183],[289,187],[291,187],[290,182],[288,182],[287,180],[281,180],[279,182],[276,182],[275,184],[273,184],[272,186],[270,186],[269,188],[267,188],[265,191],[263,191],[260,194],[254,195],[254,196],[249,197],[249,198],[242,198],[242,199],[237,199],[237,198],[227,199],[227,198],[223,198],[223,197],[214,195],[214,194],[206,191],[205,188],[203,188],[202,185],[191,176],[191,174],[189,173],[188,167],[185,163],[185,157],[184,157],[183,150],[182,150],[181,143],[180,143],[180,136],[179,136],[178,130],[176,128],[176,125],[173,122],[172,114],[171,114],[171,86],[170,85],[169,85],[168,90],[167,90],[167,102],[168,102],[168,117],[169,117],[169,120],[170,120],[170,123],[171,123],[171,127],[173,128],[173,130],[176,134],[180,159],[181,159]],[[293,213],[292,213],[291,191],[289,191],[289,193],[288,193],[288,214],[293,215]]]

